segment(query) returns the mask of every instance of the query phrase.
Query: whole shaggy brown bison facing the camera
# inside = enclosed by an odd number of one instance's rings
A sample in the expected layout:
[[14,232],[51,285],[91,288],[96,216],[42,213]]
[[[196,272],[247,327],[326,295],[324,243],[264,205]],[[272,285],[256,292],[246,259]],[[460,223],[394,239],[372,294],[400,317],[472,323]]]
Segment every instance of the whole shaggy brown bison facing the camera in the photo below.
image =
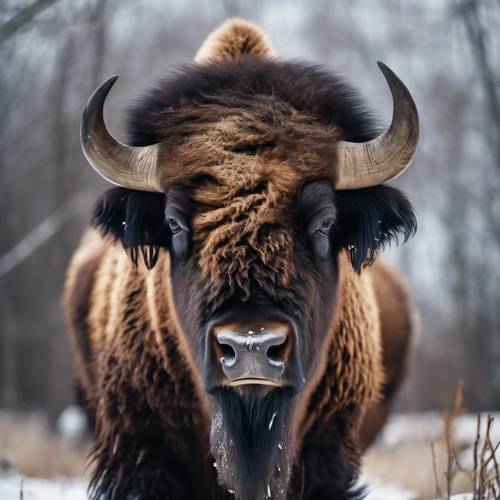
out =
[[[95,418],[94,499],[355,499],[406,371],[413,308],[379,250],[416,230],[384,185],[418,116],[382,131],[342,79],[230,20],[106,129],[83,113],[97,202],[65,285]],[[371,265],[373,264],[373,265]],[[371,266],[370,266],[371,265]]]

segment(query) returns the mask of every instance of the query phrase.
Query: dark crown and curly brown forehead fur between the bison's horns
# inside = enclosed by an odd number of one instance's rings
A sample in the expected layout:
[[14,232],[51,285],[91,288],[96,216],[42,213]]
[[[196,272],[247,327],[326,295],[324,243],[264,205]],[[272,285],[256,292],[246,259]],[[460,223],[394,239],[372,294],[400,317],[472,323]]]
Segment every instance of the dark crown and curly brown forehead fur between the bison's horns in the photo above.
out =
[[254,57],[185,67],[131,110],[128,129],[131,144],[162,144],[166,190],[190,188],[205,273],[240,285],[261,262],[286,285],[293,197],[309,180],[334,184],[337,139],[377,131],[339,78]]

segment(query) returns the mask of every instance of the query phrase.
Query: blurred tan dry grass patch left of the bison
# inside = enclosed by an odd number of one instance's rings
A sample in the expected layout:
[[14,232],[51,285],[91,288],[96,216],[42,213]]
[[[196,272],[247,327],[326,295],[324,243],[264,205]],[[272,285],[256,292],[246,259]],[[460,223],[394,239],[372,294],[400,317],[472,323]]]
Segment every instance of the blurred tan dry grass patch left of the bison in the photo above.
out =
[[84,477],[89,444],[71,443],[25,415],[0,417],[0,470],[15,468],[23,476]]

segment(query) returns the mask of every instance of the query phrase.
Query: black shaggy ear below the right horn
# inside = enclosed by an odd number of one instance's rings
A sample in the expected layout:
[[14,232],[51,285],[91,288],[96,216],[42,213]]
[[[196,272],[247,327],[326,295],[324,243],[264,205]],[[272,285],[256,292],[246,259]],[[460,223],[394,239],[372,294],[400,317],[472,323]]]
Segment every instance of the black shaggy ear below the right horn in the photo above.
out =
[[370,265],[391,241],[411,238],[417,220],[406,196],[389,186],[337,191],[337,247],[347,250],[357,272]]

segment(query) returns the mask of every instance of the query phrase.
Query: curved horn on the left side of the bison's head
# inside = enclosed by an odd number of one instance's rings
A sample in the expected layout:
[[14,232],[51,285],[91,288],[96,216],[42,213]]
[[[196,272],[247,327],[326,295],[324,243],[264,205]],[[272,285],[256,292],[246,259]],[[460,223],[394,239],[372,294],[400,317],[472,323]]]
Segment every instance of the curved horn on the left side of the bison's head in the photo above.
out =
[[104,101],[118,76],[108,78],[91,96],[82,116],[80,142],[94,169],[107,181],[141,191],[163,192],[157,173],[159,144],[126,146],[107,130]]

